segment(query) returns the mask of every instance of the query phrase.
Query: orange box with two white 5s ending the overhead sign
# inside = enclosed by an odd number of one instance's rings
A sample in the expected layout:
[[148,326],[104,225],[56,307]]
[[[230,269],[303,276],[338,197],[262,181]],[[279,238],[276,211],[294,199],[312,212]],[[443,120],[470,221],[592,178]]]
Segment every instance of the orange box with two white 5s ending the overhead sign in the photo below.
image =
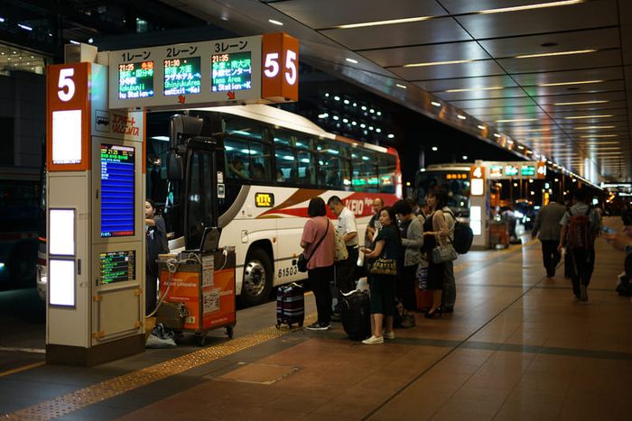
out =
[[298,100],[299,41],[286,33],[267,33],[262,41],[261,97],[274,101]]

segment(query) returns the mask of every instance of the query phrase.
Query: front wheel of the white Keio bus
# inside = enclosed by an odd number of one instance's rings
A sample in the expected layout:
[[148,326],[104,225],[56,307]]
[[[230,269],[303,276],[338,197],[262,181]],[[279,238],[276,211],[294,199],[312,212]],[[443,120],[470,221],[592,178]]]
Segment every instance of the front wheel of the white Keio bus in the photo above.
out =
[[254,248],[246,256],[244,279],[241,284],[241,302],[244,306],[265,303],[272,288],[272,262],[261,248]]

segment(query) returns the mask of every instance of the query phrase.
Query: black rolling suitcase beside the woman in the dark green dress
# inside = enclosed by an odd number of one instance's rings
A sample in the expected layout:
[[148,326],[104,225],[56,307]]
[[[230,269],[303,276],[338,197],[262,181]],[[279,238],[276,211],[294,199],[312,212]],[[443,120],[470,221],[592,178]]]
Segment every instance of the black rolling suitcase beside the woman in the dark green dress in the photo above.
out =
[[352,341],[362,341],[371,335],[371,311],[367,291],[340,294],[342,327]]

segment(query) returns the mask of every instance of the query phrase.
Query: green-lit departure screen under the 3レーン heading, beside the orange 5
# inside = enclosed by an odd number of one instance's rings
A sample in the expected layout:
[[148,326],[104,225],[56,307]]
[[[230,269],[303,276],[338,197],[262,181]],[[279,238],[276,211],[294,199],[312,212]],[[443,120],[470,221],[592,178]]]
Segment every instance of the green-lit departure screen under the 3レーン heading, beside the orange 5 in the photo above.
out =
[[227,92],[252,87],[252,59],[250,51],[213,54],[210,57],[210,89]]

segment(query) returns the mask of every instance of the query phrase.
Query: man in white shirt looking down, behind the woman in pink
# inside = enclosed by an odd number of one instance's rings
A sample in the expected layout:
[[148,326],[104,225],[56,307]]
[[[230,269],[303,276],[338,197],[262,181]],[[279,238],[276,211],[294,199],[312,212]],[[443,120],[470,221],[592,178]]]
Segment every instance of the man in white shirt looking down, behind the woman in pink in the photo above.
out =
[[358,226],[356,216],[344,206],[338,196],[332,196],[327,201],[331,212],[338,216],[338,233],[342,236],[347,246],[349,257],[347,260],[336,263],[336,285],[342,292],[348,292],[356,288],[356,266],[358,265]]

